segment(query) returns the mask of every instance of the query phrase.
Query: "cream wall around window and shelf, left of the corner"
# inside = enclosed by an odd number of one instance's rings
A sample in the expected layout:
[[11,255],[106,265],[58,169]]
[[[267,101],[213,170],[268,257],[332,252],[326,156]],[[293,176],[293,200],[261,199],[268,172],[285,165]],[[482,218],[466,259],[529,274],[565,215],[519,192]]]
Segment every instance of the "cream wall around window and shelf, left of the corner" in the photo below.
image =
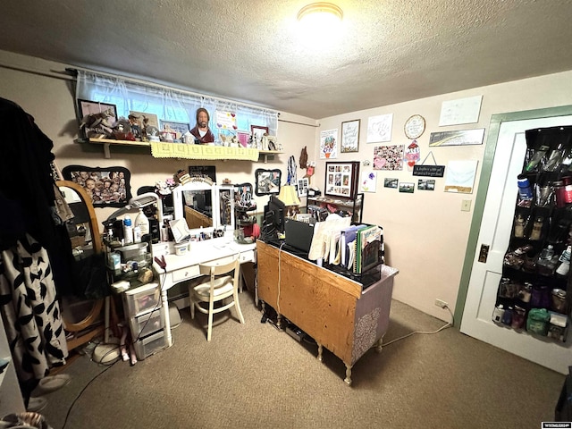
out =
[[[292,122],[314,124],[315,121],[298,115],[281,113],[278,125],[278,139],[284,154],[264,164],[250,161],[196,161],[185,159],[153,158],[147,147],[111,147],[111,159],[105,159],[103,146],[89,143],[76,143],[78,122],[74,111],[73,80],[42,76],[39,73],[58,75],[70,65],[51,63],[38,58],[15,55],[0,51],[0,97],[12,100],[34,116],[39,128],[54,141],[53,153],[60,169],[66,165],[80,164],[90,167],[122,166],[131,172],[131,193],[136,194],[141,186],[154,186],[156,181],[172,177],[179,169],[189,165],[215,165],[217,181],[230,179],[232,183],[249,182],[254,185],[254,172],[257,168],[282,170],[282,183],[286,180],[286,165],[289,156],[297,162],[303,147],[312,147],[315,141],[315,127]],[[25,72],[15,69],[33,70]],[[262,211],[268,197],[258,197],[257,210]],[[97,208],[96,214],[101,223],[115,208]]]

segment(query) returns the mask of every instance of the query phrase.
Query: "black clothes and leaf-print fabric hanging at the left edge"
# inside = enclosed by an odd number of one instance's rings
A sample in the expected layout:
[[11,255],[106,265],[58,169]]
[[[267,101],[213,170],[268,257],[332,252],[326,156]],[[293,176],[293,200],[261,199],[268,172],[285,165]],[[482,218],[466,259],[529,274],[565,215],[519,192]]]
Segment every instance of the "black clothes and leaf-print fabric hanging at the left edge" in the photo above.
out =
[[55,284],[70,282],[70,267],[65,227],[53,218],[54,145],[31,115],[4,98],[0,127],[0,314],[27,401],[68,354]]

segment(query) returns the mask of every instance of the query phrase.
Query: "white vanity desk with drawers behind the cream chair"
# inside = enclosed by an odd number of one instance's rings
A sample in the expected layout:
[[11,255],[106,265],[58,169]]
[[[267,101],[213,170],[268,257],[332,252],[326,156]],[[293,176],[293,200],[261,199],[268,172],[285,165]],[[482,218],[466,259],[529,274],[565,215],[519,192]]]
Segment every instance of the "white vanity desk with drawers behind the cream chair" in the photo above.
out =
[[[238,244],[229,242],[228,237],[220,239],[195,241],[190,244],[190,250],[186,255],[177,256],[174,252],[165,255],[168,248],[167,243],[153,245],[153,256],[164,255],[167,263],[165,269],[161,268],[153,261],[153,268],[158,275],[161,286],[161,300],[164,306],[164,333],[167,347],[172,346],[171,320],[169,317],[169,303],[167,301],[167,290],[179,282],[200,276],[198,265],[205,263],[215,263],[217,265],[228,264],[239,255],[240,264],[246,262],[256,262],[256,243]],[[171,246],[172,248],[172,246]]]

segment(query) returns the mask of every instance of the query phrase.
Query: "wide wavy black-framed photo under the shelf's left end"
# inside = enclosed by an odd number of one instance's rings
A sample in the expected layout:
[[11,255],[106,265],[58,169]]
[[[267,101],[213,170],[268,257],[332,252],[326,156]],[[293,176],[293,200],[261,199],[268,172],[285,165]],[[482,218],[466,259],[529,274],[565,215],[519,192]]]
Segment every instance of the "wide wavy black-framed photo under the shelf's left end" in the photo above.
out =
[[131,174],[125,167],[68,165],[62,174],[86,190],[94,207],[123,207],[131,198]]

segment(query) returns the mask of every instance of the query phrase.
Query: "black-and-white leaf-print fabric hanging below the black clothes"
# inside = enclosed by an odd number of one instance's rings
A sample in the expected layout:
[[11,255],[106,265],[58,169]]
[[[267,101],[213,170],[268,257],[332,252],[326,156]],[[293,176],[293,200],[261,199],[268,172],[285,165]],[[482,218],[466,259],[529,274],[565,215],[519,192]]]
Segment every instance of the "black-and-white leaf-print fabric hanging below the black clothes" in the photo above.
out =
[[45,248],[26,234],[0,253],[0,313],[21,381],[40,380],[68,355]]

